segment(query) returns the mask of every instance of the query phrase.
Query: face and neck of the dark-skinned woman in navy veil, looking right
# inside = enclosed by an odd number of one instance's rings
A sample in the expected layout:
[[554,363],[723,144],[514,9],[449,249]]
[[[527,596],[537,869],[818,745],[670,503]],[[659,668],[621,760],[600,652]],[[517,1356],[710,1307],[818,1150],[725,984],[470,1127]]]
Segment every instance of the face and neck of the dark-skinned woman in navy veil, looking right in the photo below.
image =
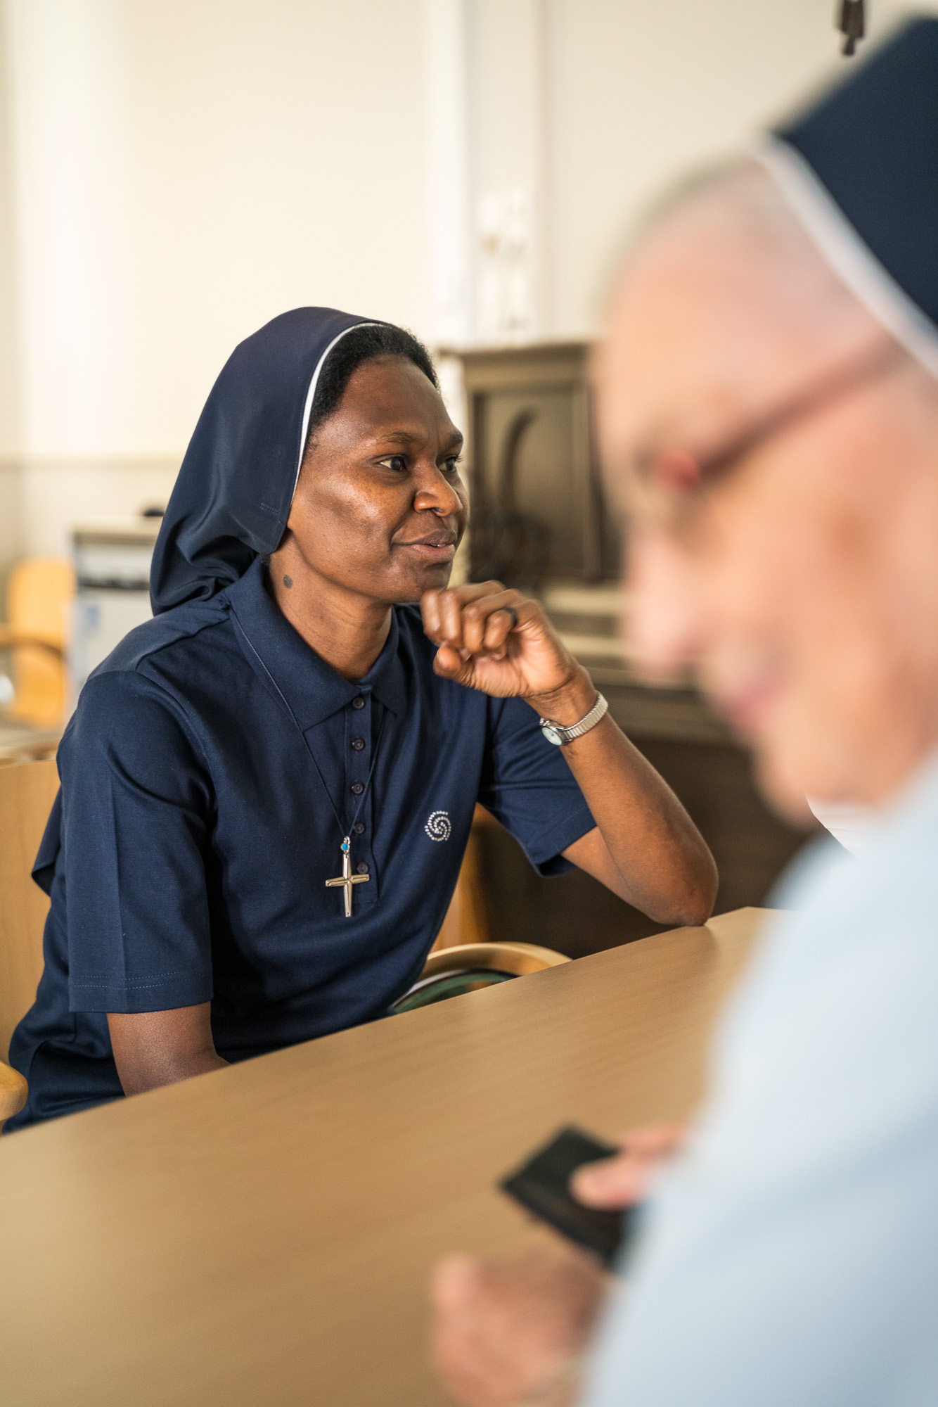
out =
[[381,653],[394,604],[446,587],[468,519],[461,447],[440,393],[397,356],[363,363],[308,443],[270,581],[346,678]]

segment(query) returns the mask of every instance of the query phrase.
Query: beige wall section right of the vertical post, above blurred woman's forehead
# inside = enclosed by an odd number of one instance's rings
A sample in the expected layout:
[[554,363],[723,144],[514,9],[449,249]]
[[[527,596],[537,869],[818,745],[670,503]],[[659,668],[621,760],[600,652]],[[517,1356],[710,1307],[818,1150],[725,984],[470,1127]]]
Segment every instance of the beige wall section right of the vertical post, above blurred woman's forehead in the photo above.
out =
[[[869,0],[872,34],[938,4]],[[551,321],[598,325],[630,221],[688,166],[731,151],[844,72],[833,0],[551,0]]]

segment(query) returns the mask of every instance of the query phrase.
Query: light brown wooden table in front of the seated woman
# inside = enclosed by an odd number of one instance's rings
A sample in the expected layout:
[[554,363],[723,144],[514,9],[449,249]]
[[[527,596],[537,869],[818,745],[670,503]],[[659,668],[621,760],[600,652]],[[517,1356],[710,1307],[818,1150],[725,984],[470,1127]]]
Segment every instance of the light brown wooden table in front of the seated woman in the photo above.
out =
[[426,1282],[558,1124],[682,1116],[759,910],[0,1140],[4,1407],[430,1407]]

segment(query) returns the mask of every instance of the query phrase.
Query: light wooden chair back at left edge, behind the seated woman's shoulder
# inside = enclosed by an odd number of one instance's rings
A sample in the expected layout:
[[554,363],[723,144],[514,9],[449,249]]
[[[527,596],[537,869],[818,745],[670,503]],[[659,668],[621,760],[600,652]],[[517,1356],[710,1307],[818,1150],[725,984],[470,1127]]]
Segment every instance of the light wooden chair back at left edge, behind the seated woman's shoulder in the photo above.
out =
[[49,900],[30,871],[55,801],[53,761],[0,767],[0,1059],[35,999]]

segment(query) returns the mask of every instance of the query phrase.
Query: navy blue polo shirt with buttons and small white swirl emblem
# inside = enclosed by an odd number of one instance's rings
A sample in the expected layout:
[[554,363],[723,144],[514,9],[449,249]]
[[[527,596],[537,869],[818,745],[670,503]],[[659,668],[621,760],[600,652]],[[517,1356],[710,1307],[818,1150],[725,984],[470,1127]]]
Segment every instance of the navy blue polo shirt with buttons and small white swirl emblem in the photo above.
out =
[[[387,1013],[440,929],[477,801],[544,875],[595,825],[527,704],[433,674],[416,606],[350,682],[263,571],[132,630],[82,691],[34,871],[52,905],[8,1128],[121,1095],[107,1012],[211,1000],[229,1061]],[[346,833],[368,877],[352,917],[326,888]]]

